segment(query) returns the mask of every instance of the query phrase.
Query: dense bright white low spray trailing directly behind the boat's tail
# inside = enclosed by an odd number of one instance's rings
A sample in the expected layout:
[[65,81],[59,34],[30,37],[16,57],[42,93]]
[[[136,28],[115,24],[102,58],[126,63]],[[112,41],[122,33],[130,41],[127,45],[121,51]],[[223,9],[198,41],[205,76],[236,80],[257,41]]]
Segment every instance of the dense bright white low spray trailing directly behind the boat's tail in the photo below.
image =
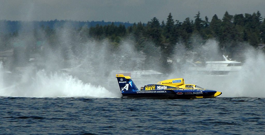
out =
[[101,86],[84,84],[76,77],[66,73],[46,73],[38,71],[34,74],[22,75],[22,80],[10,86],[3,84],[3,68],[0,67],[0,96],[4,97],[85,97],[85,98],[117,98]]

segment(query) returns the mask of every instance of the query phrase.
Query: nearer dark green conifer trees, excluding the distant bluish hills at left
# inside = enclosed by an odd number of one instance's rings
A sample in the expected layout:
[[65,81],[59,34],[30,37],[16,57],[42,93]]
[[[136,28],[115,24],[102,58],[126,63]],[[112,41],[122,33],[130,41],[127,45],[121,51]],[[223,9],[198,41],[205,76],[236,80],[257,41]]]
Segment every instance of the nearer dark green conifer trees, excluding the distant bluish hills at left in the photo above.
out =
[[96,39],[108,38],[114,44],[120,43],[121,39],[132,36],[136,41],[138,50],[144,49],[144,42],[151,41],[156,46],[164,50],[165,55],[171,55],[176,43],[181,42],[187,50],[194,47],[192,36],[199,35],[200,42],[207,39],[215,39],[219,42],[220,48],[225,46],[227,54],[233,54],[240,49],[240,43],[246,42],[257,48],[265,39],[265,18],[260,12],[253,14],[229,15],[226,11],[223,18],[219,19],[215,14],[211,21],[205,16],[201,18],[200,12],[195,15],[195,20],[186,18],[183,22],[174,20],[169,13],[166,22],[160,21],[154,17],[147,24],[134,23],[125,28],[124,25],[96,25],[90,27],[88,33],[90,37]]

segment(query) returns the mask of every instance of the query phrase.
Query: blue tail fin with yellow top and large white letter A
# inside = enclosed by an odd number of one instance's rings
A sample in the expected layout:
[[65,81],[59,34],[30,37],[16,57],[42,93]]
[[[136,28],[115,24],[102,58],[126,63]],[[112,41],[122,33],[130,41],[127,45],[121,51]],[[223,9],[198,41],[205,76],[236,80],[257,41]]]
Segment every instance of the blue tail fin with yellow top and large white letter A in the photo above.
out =
[[130,76],[118,74],[116,75],[116,78],[122,92],[139,91]]

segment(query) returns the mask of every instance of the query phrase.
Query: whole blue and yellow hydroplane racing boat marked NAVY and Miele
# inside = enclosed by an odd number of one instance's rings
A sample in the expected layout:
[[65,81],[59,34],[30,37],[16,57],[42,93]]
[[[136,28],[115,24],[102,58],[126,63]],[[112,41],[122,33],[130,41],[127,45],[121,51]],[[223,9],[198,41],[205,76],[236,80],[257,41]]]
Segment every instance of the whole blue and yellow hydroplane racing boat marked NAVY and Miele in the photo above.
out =
[[194,84],[184,84],[183,78],[149,84],[139,90],[130,76],[116,75],[123,98],[195,99],[213,98],[222,94]]

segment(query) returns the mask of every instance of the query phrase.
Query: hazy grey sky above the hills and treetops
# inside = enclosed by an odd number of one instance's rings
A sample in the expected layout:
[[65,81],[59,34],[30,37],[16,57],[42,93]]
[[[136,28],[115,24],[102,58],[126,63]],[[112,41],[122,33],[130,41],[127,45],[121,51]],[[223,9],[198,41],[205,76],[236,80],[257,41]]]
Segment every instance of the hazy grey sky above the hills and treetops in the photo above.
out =
[[200,11],[211,21],[214,14],[253,14],[265,16],[265,0],[0,0],[0,20],[76,20],[147,23],[153,17],[166,22],[171,12],[183,22]]

